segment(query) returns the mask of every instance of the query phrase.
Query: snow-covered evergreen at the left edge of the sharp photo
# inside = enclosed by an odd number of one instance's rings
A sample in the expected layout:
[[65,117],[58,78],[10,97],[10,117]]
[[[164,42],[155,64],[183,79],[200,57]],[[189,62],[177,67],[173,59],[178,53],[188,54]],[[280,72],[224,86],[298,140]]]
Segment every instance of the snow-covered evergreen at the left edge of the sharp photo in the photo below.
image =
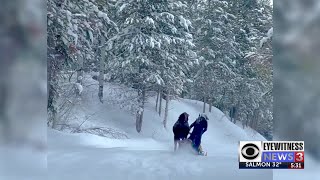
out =
[[[48,0],[48,111],[53,126],[58,121],[60,77],[69,70],[79,70],[78,57],[81,57],[84,68],[87,62],[95,60],[96,52],[93,50],[97,48],[100,32],[108,34],[116,30],[115,23],[94,1]],[[67,98],[65,100],[68,101]]]

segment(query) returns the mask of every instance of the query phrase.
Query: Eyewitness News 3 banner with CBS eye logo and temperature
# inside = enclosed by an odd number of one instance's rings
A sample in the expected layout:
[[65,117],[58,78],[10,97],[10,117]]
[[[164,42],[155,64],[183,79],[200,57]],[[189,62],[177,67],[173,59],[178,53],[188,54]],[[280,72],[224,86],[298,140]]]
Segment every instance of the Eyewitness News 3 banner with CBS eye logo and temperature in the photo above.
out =
[[239,169],[304,169],[304,141],[240,141]]

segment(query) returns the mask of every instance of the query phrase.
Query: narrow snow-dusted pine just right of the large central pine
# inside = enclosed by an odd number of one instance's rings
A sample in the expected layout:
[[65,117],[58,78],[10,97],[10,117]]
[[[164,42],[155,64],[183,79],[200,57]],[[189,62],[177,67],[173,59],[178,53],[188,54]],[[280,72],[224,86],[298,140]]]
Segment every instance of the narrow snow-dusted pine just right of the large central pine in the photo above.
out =
[[225,1],[200,1],[195,20],[196,45],[200,66],[195,76],[194,92],[198,99],[217,100],[230,77],[234,77],[235,57],[239,50],[232,33],[235,17],[228,13]]

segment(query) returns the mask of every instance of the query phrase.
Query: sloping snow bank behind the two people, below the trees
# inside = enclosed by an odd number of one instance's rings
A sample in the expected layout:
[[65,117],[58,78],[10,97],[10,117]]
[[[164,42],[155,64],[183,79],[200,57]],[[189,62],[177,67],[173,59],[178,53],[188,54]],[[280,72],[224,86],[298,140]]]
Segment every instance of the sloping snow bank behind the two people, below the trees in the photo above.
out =
[[[68,123],[81,124],[85,119],[82,127],[109,127],[123,132],[129,138],[154,138],[160,141],[172,140],[172,126],[178,119],[179,115],[187,112],[189,123],[192,123],[202,112],[203,104],[199,101],[177,99],[170,101],[168,129],[165,130],[160,117],[155,111],[156,98],[151,97],[146,103],[144,111],[142,132],[139,134],[135,130],[135,116],[129,112],[135,96],[132,89],[120,85],[106,83],[104,86],[104,103],[100,103],[97,97],[98,82],[91,78],[91,75],[84,77],[84,88],[79,105],[74,108],[71,120]],[[129,93],[128,93],[129,92]],[[126,100],[129,99],[129,100]],[[163,106],[165,101],[162,102]],[[120,108],[121,106],[122,108]],[[208,113],[209,128],[204,138],[216,143],[234,144],[239,140],[265,140],[259,133],[248,129],[242,129],[231,123],[228,118],[218,109],[212,108]]]

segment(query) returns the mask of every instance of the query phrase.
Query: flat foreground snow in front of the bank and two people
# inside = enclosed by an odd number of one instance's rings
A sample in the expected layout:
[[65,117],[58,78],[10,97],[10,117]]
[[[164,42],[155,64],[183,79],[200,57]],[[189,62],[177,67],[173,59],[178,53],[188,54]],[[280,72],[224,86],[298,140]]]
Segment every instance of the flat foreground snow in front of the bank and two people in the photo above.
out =
[[175,154],[168,143],[150,138],[105,139],[48,131],[48,179],[272,179],[272,171],[239,170],[236,145],[209,142],[209,156]]

